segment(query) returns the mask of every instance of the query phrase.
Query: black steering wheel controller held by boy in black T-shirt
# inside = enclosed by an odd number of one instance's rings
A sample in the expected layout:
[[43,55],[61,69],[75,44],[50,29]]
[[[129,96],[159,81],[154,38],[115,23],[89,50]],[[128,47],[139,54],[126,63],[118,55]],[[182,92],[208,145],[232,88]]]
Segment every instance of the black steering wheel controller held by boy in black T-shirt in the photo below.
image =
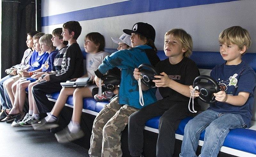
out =
[[141,64],[138,67],[139,71],[141,72],[141,82],[145,84],[148,88],[155,88],[155,82],[153,80],[159,80],[159,78],[155,78],[155,75],[159,75],[156,72],[156,69],[148,64]]

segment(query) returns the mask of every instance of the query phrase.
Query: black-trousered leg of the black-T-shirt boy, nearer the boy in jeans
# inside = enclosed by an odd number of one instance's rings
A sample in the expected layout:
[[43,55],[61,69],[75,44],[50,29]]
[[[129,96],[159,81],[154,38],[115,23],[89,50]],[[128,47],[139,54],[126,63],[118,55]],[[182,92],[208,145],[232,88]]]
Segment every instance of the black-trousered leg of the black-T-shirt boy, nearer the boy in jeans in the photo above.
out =
[[168,102],[170,108],[159,119],[159,134],[156,144],[156,156],[172,156],[175,145],[175,132],[180,121],[190,115],[188,104]]

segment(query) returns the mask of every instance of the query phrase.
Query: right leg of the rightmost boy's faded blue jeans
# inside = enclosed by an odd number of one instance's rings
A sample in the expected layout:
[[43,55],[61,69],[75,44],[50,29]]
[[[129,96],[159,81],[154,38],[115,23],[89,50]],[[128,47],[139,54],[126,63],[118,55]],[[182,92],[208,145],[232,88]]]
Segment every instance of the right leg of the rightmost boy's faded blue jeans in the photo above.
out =
[[206,129],[200,156],[217,156],[229,130],[245,127],[240,114],[220,114]]

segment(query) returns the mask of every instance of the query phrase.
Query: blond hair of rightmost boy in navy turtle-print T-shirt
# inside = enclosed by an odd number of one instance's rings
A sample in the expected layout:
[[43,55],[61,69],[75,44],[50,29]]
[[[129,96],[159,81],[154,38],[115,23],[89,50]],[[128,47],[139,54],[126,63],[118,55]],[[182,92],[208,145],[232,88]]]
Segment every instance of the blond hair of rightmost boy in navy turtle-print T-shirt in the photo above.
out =
[[223,30],[220,33],[219,42],[221,44],[226,43],[229,45],[231,43],[237,45],[239,50],[242,50],[243,47],[246,46],[246,52],[247,49],[251,46],[251,37],[246,29],[240,26],[233,26]]

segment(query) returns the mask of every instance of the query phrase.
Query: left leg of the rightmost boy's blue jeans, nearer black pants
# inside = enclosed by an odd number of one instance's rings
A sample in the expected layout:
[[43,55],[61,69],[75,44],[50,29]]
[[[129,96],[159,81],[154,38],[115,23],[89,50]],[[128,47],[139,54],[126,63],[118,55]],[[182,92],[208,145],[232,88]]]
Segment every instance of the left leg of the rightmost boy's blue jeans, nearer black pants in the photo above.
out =
[[218,118],[219,113],[213,110],[206,110],[196,117],[188,121],[184,129],[184,136],[181,145],[182,157],[196,156],[196,150],[198,147],[198,141],[201,132],[215,119]]

